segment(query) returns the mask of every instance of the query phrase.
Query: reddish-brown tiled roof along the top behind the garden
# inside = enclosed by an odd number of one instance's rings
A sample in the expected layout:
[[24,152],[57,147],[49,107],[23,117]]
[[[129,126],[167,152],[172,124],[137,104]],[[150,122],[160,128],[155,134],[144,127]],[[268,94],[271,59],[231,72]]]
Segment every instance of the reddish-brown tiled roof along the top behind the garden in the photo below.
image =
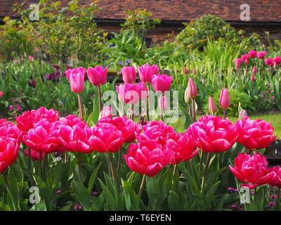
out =
[[[15,0],[0,0],[0,17],[18,16],[11,6]],[[38,3],[38,1],[27,1]],[[68,1],[61,0],[62,4]],[[91,0],[80,0],[90,3]],[[250,22],[281,22],[280,0],[100,0],[98,6],[102,8],[97,13],[98,19],[124,19],[124,11],[146,8],[153,13],[153,17],[161,20],[188,21],[200,18],[202,15],[217,15],[224,20],[240,21],[240,5],[247,3],[250,7]]]

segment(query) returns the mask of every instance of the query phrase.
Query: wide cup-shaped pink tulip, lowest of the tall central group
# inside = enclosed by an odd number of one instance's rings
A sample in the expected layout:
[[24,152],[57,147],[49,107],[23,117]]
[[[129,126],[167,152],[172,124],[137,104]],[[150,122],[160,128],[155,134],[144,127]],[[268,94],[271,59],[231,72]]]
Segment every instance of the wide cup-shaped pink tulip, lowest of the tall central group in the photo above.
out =
[[117,94],[124,103],[136,104],[141,100],[143,84],[120,84],[115,86]]

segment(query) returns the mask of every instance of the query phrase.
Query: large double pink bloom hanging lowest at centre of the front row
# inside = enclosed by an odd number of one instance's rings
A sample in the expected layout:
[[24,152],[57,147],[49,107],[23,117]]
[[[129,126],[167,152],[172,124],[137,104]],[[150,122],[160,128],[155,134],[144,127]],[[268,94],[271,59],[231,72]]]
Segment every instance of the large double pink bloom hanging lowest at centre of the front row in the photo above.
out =
[[148,176],[155,176],[163,167],[169,164],[173,152],[163,150],[156,141],[131,143],[128,153],[124,155],[126,165]]

